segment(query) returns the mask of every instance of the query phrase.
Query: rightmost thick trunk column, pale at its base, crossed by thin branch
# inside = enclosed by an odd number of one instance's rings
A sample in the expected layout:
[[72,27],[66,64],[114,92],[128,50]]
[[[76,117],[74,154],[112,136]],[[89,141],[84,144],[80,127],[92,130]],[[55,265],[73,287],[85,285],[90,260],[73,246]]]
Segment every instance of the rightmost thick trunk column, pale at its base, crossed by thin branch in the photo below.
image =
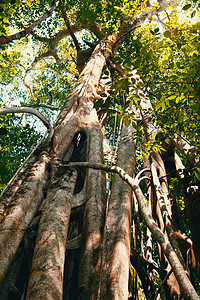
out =
[[[135,166],[134,129],[123,126],[117,165],[133,176]],[[102,242],[102,270],[96,299],[127,299],[132,219],[132,191],[114,175],[111,197],[108,200],[104,240]],[[108,255],[109,254],[109,255]],[[109,288],[108,288],[109,287]]]

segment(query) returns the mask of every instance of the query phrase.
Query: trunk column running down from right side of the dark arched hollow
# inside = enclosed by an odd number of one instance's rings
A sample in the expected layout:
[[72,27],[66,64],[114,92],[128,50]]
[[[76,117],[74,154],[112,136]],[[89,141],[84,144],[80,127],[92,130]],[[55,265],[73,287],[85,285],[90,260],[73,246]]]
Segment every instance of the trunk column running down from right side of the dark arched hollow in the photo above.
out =
[[[96,127],[96,128],[95,128]],[[103,162],[103,136],[99,125],[89,130],[88,160]],[[105,213],[105,174],[88,170],[86,174],[86,204],[83,219],[83,244],[79,268],[78,299],[95,299],[97,284],[91,288],[95,273],[99,274],[99,251]]]

